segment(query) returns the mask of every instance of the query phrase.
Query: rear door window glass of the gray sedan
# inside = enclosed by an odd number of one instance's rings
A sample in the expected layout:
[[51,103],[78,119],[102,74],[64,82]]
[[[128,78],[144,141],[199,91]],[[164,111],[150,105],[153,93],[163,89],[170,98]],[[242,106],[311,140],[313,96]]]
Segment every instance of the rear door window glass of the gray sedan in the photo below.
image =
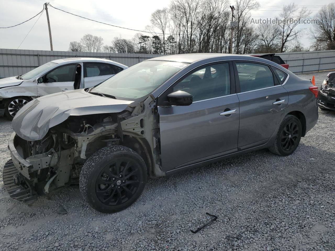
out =
[[272,71],[266,65],[236,63],[241,92],[274,86]]

